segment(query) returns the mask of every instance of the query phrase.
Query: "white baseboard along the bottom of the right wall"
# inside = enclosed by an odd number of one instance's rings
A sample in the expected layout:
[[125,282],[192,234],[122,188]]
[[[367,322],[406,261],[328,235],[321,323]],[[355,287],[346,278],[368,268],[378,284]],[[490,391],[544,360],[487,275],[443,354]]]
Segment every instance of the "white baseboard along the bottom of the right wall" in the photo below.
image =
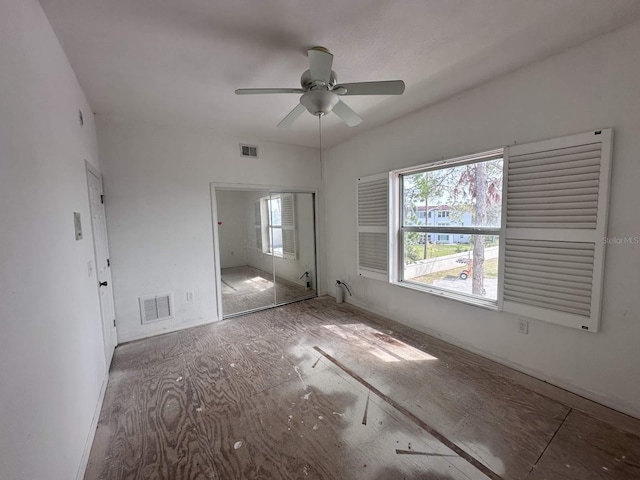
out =
[[501,365],[504,365],[505,367],[509,367],[517,372],[523,373],[525,375],[529,375],[533,378],[536,378],[540,381],[549,383],[550,385],[553,385],[555,387],[561,388],[563,390],[566,390],[568,392],[571,392],[575,395],[578,395],[580,397],[586,398],[587,400],[591,400],[592,402],[596,402],[599,403],[601,405],[604,405],[605,407],[609,407],[613,410],[616,410],[618,412],[624,413],[625,415],[629,415],[631,417],[634,417],[636,419],[640,419],[640,411],[637,409],[634,409],[632,406],[629,406],[627,404],[618,402],[616,399],[611,398],[611,397],[607,397],[604,396],[602,394],[599,394],[597,392],[593,392],[591,390],[587,390],[584,389],[578,385],[575,385],[571,382],[567,382],[564,379],[561,378],[557,378],[557,377],[553,377],[551,375],[548,375],[544,372],[541,372],[539,370],[533,369],[533,368],[529,368],[525,365],[521,365],[519,363],[513,362],[511,360],[508,360],[506,358],[497,356],[497,355],[493,355],[491,353],[488,353],[484,350],[481,350],[479,348],[474,347],[473,345],[470,345],[468,343],[462,342],[459,339],[452,337],[450,335],[447,335],[445,333],[442,333],[438,330],[434,330],[432,328],[428,328],[428,327],[421,327],[421,328],[417,328],[413,325],[409,325],[407,323],[404,323],[400,320],[396,320],[394,318],[390,318],[389,315],[385,312],[379,311],[377,309],[374,308],[370,308],[360,302],[358,302],[357,300],[353,300],[352,298],[349,298],[348,302],[345,302],[349,305],[352,305],[354,307],[357,307],[361,310],[364,310],[366,312],[372,313],[374,315],[392,320],[394,322],[400,323],[402,325],[405,325],[409,328],[413,328],[419,332],[422,333],[426,333],[427,335],[431,335],[434,338],[437,338],[439,340],[442,340],[444,342],[447,342],[451,345],[454,345],[456,347],[462,348],[463,350],[466,350],[468,352],[471,353],[475,353],[476,355],[479,355],[483,358],[486,358],[488,360],[494,361],[496,363],[499,363]]

